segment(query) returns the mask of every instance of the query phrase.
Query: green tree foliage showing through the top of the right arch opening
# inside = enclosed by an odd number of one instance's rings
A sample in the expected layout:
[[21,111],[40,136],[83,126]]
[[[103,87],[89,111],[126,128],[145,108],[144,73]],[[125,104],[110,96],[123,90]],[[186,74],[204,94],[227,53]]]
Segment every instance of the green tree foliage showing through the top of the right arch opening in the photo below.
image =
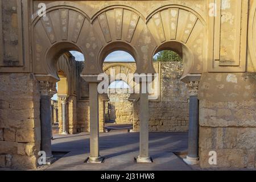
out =
[[154,56],[154,61],[182,61],[181,57],[174,51],[160,51]]

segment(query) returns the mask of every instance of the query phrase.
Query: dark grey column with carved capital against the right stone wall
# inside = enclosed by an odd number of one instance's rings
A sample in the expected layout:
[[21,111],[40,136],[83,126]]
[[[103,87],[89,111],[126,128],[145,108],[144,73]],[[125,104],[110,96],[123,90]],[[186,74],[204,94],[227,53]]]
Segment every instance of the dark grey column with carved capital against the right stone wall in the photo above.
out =
[[189,128],[188,155],[184,161],[189,165],[199,163],[199,100],[197,99],[199,81],[187,83],[189,90]]

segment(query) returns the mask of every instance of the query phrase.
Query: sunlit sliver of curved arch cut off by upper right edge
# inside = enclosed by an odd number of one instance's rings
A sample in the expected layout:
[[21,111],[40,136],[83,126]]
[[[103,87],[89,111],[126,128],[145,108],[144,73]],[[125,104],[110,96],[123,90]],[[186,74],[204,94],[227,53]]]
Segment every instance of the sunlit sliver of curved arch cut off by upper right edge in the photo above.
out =
[[[248,46],[250,51],[251,60],[256,59],[256,2],[253,1],[250,8],[249,15],[249,28],[248,28]],[[253,61],[253,68],[256,69],[256,63]]]

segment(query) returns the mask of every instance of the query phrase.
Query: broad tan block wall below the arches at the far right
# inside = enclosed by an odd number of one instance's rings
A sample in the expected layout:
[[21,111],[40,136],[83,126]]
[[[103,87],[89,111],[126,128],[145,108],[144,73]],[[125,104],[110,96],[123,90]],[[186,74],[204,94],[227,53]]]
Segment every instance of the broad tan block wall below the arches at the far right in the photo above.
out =
[[[204,73],[199,87],[199,152],[203,168],[255,168],[255,73]],[[216,151],[217,165],[210,165]]]

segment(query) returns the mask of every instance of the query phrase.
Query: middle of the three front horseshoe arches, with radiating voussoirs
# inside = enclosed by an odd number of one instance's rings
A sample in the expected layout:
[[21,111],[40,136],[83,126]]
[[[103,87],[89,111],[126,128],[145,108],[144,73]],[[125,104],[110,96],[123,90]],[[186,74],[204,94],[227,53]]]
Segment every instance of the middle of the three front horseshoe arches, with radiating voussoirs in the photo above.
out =
[[[102,57],[106,52],[121,48],[136,59],[136,72],[155,73],[148,56],[155,43],[144,20],[138,11],[127,6],[110,6],[93,15],[92,26],[101,42],[101,49],[97,53],[98,72],[102,72]],[[89,68],[85,68],[83,74],[88,74]]]

